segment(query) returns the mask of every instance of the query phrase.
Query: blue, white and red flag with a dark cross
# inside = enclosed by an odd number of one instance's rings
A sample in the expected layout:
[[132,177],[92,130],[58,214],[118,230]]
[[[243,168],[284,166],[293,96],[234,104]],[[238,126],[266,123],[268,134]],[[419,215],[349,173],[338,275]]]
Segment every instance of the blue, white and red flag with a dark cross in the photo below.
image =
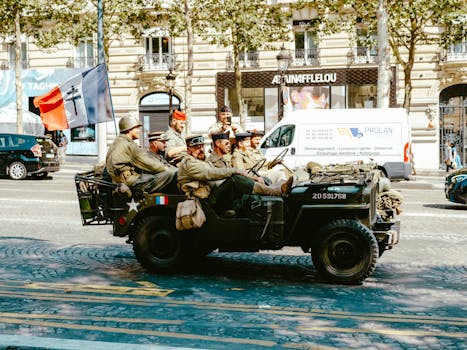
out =
[[49,131],[65,130],[114,119],[105,64],[81,72],[34,98]]

